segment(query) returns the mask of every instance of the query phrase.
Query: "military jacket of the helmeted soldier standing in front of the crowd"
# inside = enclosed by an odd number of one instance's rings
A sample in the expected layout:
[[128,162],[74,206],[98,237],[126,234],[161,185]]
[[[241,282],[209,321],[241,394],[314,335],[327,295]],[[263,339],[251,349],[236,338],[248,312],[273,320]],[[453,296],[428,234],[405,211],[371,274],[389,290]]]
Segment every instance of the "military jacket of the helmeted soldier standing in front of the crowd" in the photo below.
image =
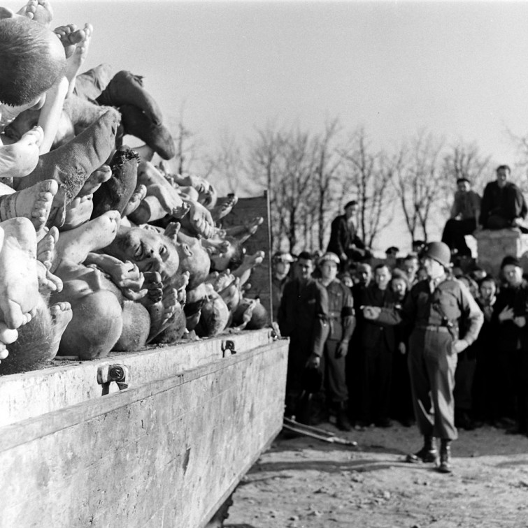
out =
[[454,339],[471,344],[478,337],[484,316],[462,282],[445,279],[432,293],[429,281],[418,282],[411,288],[401,310],[382,309],[378,321],[388,324],[404,321],[415,329],[446,326],[452,329]]

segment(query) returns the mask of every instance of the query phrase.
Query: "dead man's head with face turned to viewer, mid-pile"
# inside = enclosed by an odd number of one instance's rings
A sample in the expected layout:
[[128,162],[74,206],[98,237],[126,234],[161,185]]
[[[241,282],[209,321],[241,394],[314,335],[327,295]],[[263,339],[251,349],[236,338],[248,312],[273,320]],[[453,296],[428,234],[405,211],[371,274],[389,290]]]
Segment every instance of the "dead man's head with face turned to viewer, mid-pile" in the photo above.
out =
[[158,272],[162,281],[173,277],[180,264],[178,252],[171,241],[150,229],[120,227],[105,252],[123,262],[133,262],[141,272]]

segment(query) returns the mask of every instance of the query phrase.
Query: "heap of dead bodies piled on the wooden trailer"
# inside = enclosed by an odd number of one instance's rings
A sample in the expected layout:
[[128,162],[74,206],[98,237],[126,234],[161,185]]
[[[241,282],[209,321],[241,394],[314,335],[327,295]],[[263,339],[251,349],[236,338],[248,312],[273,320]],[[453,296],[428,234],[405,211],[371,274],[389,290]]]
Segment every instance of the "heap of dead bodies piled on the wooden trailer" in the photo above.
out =
[[92,26],[51,22],[48,0],[0,8],[0,374],[262,328],[242,247],[262,219],[220,228],[235,196],[152,163],[176,152],[141,77],[79,75]]

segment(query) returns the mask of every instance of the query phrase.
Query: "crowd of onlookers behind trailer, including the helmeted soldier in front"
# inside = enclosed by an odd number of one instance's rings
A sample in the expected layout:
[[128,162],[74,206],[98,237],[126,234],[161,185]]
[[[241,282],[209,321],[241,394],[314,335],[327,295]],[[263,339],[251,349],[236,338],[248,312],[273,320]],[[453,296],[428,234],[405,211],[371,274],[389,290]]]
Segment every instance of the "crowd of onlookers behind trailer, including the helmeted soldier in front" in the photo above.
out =
[[509,172],[497,168],[483,200],[459,179],[443,242],[416,241],[404,258],[397,247],[371,258],[354,200],[332,223],[326,253],[273,256],[273,318],[291,339],[288,415],[335,420],[345,431],[416,423],[424,443],[408,462],[443,472],[457,427],[528,433],[522,265],[504,256],[498,277],[457,265],[468,256],[465,235],[479,226],[525,230],[524,197]]

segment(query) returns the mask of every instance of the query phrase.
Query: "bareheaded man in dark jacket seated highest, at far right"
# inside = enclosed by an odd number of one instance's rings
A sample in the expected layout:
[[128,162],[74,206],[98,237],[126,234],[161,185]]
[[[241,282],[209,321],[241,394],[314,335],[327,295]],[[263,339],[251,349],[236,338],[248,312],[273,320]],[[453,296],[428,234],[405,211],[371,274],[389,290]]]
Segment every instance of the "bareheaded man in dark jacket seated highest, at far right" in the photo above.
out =
[[517,185],[507,181],[510,173],[507,165],[497,167],[497,179],[484,189],[479,223],[485,229],[518,227],[527,233],[522,226],[528,212],[525,197]]

